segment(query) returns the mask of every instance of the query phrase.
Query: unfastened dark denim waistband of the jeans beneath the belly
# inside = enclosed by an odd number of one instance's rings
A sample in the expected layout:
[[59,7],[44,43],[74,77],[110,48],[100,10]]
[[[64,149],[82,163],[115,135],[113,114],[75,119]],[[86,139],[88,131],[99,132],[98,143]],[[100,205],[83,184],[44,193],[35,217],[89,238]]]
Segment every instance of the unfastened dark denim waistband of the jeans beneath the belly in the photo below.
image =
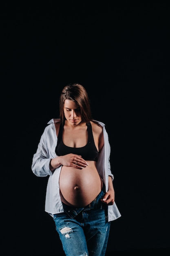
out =
[[68,214],[72,219],[75,218],[81,211],[83,210],[91,210],[91,209],[105,209],[106,205],[102,204],[101,200],[105,194],[105,185],[103,184],[102,191],[97,195],[97,197],[85,207],[72,207],[66,204],[63,204],[64,212]]

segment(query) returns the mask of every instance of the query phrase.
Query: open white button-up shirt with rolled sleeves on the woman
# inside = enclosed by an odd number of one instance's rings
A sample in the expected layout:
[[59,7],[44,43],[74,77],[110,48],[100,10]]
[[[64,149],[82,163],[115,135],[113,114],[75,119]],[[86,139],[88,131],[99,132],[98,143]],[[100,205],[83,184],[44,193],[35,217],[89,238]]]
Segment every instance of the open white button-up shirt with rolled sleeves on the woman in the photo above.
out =
[[[46,188],[45,211],[52,217],[55,213],[64,212],[59,186],[59,177],[62,166],[59,166],[53,172],[49,168],[51,159],[57,157],[55,153],[55,148],[57,146],[55,123],[59,121],[60,119],[51,119],[48,122],[48,126],[44,129],[40,138],[37,151],[33,155],[32,162],[32,171],[36,176],[45,177],[49,175]],[[113,174],[110,171],[110,144],[108,141],[108,133],[106,132],[105,124],[99,121],[93,121],[103,127],[104,147],[97,160],[97,170],[106,186],[106,191],[108,191],[108,176],[111,176],[112,180],[114,179]],[[120,216],[121,214],[115,202],[113,205],[108,206],[108,221],[115,220]]]

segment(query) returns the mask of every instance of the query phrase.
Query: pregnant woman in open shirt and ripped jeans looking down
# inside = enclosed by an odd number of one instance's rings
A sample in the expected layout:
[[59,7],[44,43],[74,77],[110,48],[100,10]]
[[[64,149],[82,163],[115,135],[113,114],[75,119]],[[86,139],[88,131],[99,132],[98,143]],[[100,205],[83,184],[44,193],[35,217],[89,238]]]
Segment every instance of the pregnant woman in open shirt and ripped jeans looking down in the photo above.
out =
[[[105,125],[91,117],[85,88],[68,84],[60,118],[46,126],[33,155],[35,175],[49,175],[45,211],[55,222],[66,256],[104,256],[115,204]],[[54,242],[54,241],[53,241]]]

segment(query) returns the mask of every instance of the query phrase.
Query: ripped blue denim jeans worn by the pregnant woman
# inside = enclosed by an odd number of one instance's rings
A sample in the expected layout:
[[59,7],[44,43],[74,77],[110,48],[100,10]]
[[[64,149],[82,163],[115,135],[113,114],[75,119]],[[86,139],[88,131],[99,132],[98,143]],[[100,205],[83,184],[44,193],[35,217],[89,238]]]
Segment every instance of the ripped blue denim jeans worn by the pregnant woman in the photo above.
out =
[[54,214],[56,230],[66,256],[104,256],[108,243],[110,222],[107,206],[97,198],[86,207],[74,208],[63,203],[64,213]]

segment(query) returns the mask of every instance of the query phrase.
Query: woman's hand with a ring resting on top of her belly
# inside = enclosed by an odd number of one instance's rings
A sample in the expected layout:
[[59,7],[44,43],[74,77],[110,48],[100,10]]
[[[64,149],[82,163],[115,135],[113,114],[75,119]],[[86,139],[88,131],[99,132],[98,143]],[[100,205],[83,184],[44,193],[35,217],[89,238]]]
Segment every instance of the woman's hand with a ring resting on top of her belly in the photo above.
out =
[[82,158],[81,155],[75,155],[71,153],[51,159],[50,170],[54,171],[60,165],[82,169],[87,167],[88,163]]

